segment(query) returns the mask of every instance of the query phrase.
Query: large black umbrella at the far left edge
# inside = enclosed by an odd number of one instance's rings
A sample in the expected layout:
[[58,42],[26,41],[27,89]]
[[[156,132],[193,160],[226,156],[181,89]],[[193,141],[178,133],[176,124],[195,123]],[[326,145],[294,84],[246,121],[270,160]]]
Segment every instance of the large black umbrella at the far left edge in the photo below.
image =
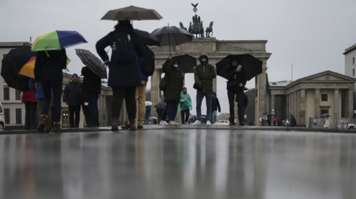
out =
[[29,90],[29,77],[19,75],[19,71],[31,57],[37,55],[37,52],[31,52],[29,46],[19,47],[10,50],[2,61],[1,76],[3,76],[7,85],[17,90]]

